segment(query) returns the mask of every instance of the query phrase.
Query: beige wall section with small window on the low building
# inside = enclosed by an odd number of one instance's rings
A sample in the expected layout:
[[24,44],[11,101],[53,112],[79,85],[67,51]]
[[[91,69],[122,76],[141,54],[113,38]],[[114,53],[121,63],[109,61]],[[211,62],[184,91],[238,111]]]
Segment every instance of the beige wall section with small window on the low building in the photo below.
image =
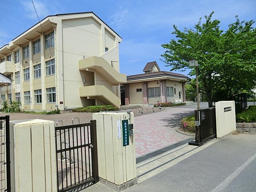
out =
[[136,89],[142,89],[142,83],[131,83],[129,84],[129,93],[130,93],[130,104],[142,104],[142,92],[136,92]]

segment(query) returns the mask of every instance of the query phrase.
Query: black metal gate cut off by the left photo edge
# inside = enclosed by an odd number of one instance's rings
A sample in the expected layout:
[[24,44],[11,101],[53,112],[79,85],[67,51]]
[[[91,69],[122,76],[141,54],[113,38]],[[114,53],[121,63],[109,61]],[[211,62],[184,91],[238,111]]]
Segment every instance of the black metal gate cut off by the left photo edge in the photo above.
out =
[[0,192],[11,191],[10,175],[10,116],[0,117]]

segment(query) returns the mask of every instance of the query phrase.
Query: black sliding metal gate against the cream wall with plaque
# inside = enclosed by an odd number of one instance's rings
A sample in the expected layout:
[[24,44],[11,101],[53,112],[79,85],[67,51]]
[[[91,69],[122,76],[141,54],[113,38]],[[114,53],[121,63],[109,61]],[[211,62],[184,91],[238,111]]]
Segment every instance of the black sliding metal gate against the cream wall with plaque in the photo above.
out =
[[215,107],[195,110],[196,137],[190,145],[201,146],[208,140],[216,138]]

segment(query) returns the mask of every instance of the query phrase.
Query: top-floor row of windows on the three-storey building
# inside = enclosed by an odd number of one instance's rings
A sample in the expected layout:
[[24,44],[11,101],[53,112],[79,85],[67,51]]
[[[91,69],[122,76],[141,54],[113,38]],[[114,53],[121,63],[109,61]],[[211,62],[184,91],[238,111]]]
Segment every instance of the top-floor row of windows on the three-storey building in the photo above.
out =
[[[54,46],[54,31],[45,35],[45,49]],[[41,52],[41,40],[40,38],[33,42],[33,53],[37,54]],[[29,45],[23,47],[23,58],[29,57]],[[12,56],[7,56],[7,61],[12,61]],[[4,58],[1,59],[1,63],[4,62]],[[20,62],[20,50],[14,52],[14,62]]]

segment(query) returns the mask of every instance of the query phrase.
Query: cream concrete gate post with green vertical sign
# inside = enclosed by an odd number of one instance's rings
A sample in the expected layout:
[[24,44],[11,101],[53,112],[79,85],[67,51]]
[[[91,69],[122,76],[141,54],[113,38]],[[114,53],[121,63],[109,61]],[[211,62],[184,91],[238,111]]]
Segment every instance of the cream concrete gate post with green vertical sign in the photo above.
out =
[[[121,191],[137,183],[134,134],[125,139],[126,126],[134,124],[134,114],[100,112],[93,114],[97,127],[99,180],[110,188]],[[122,125],[123,124],[123,125]],[[129,126],[127,125],[127,128]],[[132,131],[133,132],[133,131]],[[126,145],[126,146],[124,146]]]

